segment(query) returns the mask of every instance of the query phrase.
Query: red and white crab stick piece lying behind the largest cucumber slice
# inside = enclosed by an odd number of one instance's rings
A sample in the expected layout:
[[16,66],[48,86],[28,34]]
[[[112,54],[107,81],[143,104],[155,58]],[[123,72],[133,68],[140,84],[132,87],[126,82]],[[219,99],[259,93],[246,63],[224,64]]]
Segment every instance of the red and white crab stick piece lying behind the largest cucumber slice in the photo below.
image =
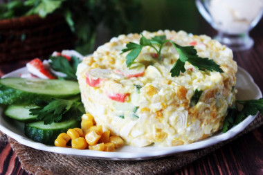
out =
[[35,58],[31,62],[28,62],[26,64],[26,67],[28,68],[28,72],[36,75],[37,77],[43,79],[56,79],[56,77],[51,75],[51,73],[46,68],[44,68],[42,61],[38,58]]

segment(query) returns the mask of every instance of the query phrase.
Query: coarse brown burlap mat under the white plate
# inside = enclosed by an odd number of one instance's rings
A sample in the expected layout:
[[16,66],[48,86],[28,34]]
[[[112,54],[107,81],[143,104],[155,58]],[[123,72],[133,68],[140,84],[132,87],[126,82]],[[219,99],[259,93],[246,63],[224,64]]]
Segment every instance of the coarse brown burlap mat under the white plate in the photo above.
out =
[[220,142],[217,145],[175,154],[165,158],[154,160],[93,160],[74,156],[55,154],[48,151],[39,151],[19,144],[0,131],[0,139],[8,140],[12,149],[16,152],[22,167],[30,174],[167,174],[184,165],[191,163],[197,158],[218,149],[227,142],[252,131],[263,125],[263,115],[258,115],[242,133],[235,138]]

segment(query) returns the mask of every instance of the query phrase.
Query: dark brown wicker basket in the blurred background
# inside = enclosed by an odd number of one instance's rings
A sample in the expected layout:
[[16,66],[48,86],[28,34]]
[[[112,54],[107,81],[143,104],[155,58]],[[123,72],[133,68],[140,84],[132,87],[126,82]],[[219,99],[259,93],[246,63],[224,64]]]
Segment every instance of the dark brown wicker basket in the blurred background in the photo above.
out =
[[74,41],[66,21],[57,15],[0,20],[0,63],[46,57],[54,50],[73,48]]

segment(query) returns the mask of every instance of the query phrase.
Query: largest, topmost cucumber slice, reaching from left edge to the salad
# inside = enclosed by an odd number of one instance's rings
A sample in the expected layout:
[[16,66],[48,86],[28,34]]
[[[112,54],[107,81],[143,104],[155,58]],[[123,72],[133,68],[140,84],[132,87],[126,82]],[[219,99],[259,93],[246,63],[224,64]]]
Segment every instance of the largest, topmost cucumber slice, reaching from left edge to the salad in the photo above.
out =
[[68,98],[80,93],[78,82],[8,77],[0,80],[0,104],[31,103],[35,98]]

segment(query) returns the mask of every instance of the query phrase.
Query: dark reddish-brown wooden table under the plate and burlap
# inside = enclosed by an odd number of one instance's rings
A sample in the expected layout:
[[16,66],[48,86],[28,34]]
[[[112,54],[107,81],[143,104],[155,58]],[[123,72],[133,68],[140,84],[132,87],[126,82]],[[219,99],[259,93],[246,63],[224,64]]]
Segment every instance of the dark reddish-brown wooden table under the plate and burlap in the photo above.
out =
[[[207,35],[215,35],[207,24],[202,27]],[[238,66],[252,75],[255,83],[263,90],[263,22],[251,32],[255,46],[251,50],[234,53]],[[201,34],[201,32],[200,32]],[[0,76],[26,65],[27,61],[0,64]],[[171,174],[263,174],[263,126],[247,133],[199,158]],[[27,174],[10,144],[0,141],[0,174]]]

